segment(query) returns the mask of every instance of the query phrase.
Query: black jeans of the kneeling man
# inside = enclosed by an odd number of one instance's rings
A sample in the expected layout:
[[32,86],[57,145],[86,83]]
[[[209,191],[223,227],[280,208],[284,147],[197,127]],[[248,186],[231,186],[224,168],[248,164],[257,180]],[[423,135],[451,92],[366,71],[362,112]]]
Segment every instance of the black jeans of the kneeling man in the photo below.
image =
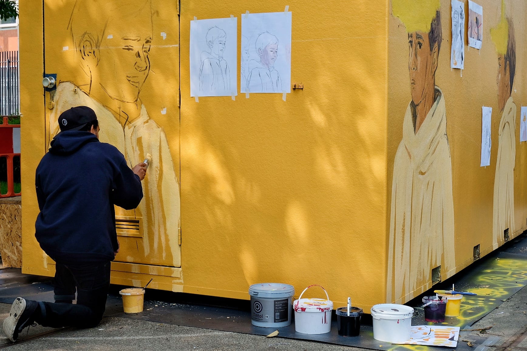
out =
[[[55,266],[55,303],[38,302],[35,322],[52,328],[95,327],[101,322],[110,287],[110,262]],[[77,291],[77,304],[72,304]]]

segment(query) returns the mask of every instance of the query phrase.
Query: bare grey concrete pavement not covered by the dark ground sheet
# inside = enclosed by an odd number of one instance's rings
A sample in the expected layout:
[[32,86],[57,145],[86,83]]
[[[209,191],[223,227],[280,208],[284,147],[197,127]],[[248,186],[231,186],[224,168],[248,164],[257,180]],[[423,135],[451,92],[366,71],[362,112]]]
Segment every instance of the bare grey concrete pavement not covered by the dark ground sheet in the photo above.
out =
[[[6,317],[10,305],[0,304],[0,318]],[[485,335],[500,337],[500,351],[527,350],[527,288],[506,300],[501,306],[475,323],[472,328],[484,328]],[[43,333],[49,333],[44,334]],[[471,335],[482,335],[472,332]],[[470,336],[460,337],[470,340]],[[466,342],[465,342],[466,343]],[[323,344],[280,337],[221,332],[218,330],[145,322],[129,318],[105,317],[97,328],[49,329],[31,327],[15,344],[5,343],[9,350],[354,350],[355,347]],[[434,348],[431,348],[431,350]]]

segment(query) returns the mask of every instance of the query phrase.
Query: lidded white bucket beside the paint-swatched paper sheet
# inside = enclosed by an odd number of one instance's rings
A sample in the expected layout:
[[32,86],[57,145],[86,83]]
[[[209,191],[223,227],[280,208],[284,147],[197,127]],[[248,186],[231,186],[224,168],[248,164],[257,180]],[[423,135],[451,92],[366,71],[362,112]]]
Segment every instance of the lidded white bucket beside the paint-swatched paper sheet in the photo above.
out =
[[414,309],[405,305],[379,304],[372,307],[373,338],[388,343],[410,339]]

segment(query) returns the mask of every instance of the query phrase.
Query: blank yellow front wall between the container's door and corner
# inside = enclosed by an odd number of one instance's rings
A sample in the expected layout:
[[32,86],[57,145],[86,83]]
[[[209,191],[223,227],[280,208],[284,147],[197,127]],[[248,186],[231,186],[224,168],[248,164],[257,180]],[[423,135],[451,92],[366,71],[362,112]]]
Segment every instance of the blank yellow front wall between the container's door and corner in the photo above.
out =
[[[240,37],[240,14],[284,5],[182,2],[181,42],[194,16],[233,14]],[[289,5],[291,83],[304,89],[286,102],[239,94],[196,103],[181,47],[183,291],[248,298],[250,284],[272,281],[298,296],[317,283],[336,304],[351,295],[370,306],[385,275],[386,4],[355,1],[346,13],[339,2]]]

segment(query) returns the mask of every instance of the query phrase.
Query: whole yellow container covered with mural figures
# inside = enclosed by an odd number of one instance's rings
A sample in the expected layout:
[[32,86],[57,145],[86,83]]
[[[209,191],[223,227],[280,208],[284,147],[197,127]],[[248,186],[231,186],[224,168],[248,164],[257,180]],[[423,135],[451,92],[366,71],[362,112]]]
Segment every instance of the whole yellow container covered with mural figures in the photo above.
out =
[[[464,28],[446,0],[21,1],[23,272],[54,274],[34,171],[76,105],[130,163],[153,155],[142,204],[116,217],[114,284],[248,299],[251,284],[316,283],[369,311],[490,253],[527,228],[527,3],[480,0],[481,49],[462,4]],[[302,89],[191,97],[194,18],[238,18],[240,82],[242,14],[285,9]]]

